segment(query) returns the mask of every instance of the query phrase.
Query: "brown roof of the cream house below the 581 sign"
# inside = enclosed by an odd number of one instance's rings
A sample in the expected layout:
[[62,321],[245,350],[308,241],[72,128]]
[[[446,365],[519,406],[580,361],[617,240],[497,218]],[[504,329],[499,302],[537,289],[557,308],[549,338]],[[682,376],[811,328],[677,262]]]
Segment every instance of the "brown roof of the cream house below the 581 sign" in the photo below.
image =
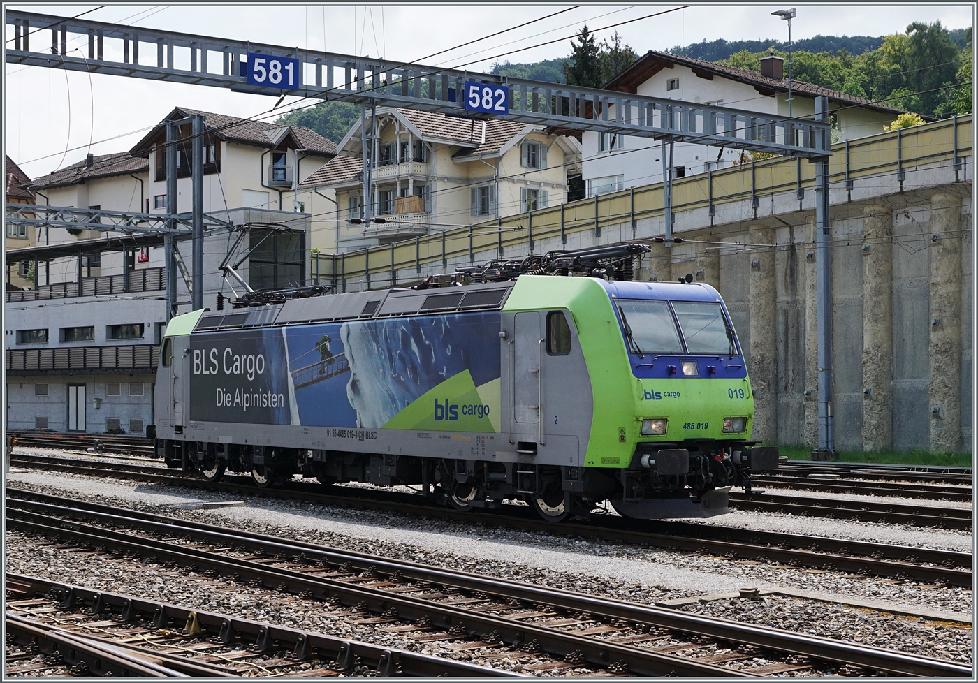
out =
[[[252,121],[238,116],[227,116],[186,107],[176,107],[163,120],[185,118],[192,114],[203,114],[204,128],[213,131],[222,140],[270,148],[291,134],[297,144],[296,147],[300,149],[308,149],[323,156],[333,156],[336,153],[335,143],[308,128],[283,126],[266,121]],[[163,123],[160,122],[133,147],[132,153],[139,156],[148,155],[150,148],[156,143],[156,139],[164,134],[164,130]]]

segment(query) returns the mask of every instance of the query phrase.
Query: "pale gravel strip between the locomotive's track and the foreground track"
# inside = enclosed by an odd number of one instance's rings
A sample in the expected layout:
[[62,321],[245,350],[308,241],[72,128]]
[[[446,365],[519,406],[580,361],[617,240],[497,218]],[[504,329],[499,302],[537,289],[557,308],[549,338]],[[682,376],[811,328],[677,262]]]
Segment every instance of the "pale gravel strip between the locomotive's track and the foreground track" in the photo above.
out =
[[[795,589],[889,604],[893,609],[957,613],[972,611],[972,595],[961,588],[927,589],[835,572],[808,572],[711,558],[656,548],[465,526],[445,521],[338,509],[299,501],[247,499],[245,507],[181,510],[174,504],[229,500],[217,491],[188,491],[123,480],[106,481],[37,471],[12,472],[17,486],[122,507],[181,516],[211,524],[284,535],[360,552],[436,566],[475,570],[547,585],[651,603],[662,599],[725,593],[750,585]],[[239,496],[240,497],[240,496]],[[729,516],[728,516],[729,517]],[[809,530],[811,531],[811,530]],[[930,531],[918,532],[921,536]]]

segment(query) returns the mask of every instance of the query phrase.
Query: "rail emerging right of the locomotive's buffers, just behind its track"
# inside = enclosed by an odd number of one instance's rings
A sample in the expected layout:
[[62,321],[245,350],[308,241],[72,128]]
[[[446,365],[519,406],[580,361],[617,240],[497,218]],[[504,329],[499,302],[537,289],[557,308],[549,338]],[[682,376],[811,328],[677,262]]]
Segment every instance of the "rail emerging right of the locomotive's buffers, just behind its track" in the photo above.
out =
[[889,522],[917,527],[971,529],[972,511],[957,507],[919,508],[875,500],[797,498],[789,495],[731,493],[730,506],[737,510],[787,512],[794,515],[853,519],[860,522]]

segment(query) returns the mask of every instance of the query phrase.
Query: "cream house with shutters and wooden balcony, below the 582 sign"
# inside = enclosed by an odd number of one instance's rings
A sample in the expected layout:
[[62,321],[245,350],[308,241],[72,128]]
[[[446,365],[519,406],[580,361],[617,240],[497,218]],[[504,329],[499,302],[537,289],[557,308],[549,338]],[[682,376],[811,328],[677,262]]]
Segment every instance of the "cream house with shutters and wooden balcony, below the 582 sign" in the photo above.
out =
[[[370,117],[367,125],[373,129]],[[335,192],[337,252],[559,204],[580,161],[573,138],[505,119],[382,107],[376,130],[373,196],[366,203],[382,222],[349,222],[365,216],[359,122],[339,142],[339,156],[299,187],[300,198]]]

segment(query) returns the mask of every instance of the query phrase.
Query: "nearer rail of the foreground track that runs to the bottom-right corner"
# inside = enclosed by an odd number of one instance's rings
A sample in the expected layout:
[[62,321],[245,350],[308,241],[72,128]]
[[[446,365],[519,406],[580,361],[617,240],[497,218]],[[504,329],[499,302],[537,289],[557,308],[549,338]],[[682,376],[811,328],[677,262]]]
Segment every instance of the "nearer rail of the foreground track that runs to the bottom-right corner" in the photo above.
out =
[[[116,517],[127,524],[139,524],[132,518]],[[156,523],[144,521],[142,524],[150,526]],[[318,599],[329,600],[335,596],[348,605],[366,604],[371,612],[378,614],[385,612],[389,614],[388,611],[393,609],[397,612],[398,619],[417,621],[426,618],[433,624],[445,628],[464,625],[469,634],[474,633],[483,637],[492,634],[494,638],[498,635],[496,640],[510,644],[521,645],[536,640],[544,652],[558,657],[566,657],[575,651],[580,651],[591,666],[604,668],[613,662],[624,662],[629,671],[641,676],[679,674],[699,677],[751,677],[751,674],[736,669],[663,655],[633,646],[618,645],[610,641],[576,635],[572,631],[560,631],[506,617],[489,617],[461,606],[448,606],[422,598],[389,593],[378,588],[345,583],[325,576],[310,576],[288,569],[268,567],[257,562],[173,545],[145,536],[134,540],[132,534],[90,527],[23,510],[12,511],[7,519],[7,525],[8,528],[17,528],[33,534],[68,537],[91,547],[111,549],[122,554],[138,553],[141,557],[156,556],[156,561],[160,557],[165,557],[178,566],[194,568],[197,571],[214,570],[225,576],[241,576],[244,580],[260,580],[263,585],[271,588],[282,589],[284,585],[289,592],[307,595],[311,592],[313,597]],[[157,526],[164,527],[164,525]],[[190,531],[183,533],[204,535],[209,542],[219,541],[228,544],[242,542],[235,534],[202,534]],[[279,545],[281,550],[288,548],[287,544]]]

